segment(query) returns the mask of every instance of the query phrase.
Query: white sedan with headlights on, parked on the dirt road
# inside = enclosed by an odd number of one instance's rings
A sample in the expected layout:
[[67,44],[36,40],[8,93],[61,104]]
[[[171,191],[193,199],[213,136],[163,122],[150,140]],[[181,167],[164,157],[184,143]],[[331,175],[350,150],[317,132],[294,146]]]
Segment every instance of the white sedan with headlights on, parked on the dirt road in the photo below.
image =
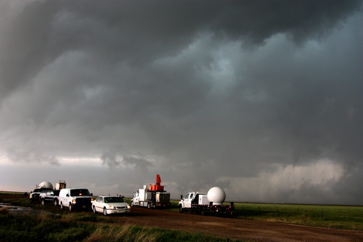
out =
[[122,197],[117,196],[99,196],[92,202],[93,213],[108,214],[130,213],[129,204],[123,201]]

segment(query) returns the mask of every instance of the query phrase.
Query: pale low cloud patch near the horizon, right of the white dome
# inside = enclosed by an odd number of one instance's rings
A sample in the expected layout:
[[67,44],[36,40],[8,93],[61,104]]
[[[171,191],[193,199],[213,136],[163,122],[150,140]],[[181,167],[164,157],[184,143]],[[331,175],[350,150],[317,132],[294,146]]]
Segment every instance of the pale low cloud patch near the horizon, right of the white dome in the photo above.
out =
[[[337,201],[335,188],[343,179],[345,169],[331,160],[318,160],[305,165],[276,165],[276,171],[262,171],[245,178],[221,177],[219,185],[229,194],[246,194],[242,201],[305,202]],[[231,199],[231,198],[230,198]],[[331,203],[331,202],[329,202]]]

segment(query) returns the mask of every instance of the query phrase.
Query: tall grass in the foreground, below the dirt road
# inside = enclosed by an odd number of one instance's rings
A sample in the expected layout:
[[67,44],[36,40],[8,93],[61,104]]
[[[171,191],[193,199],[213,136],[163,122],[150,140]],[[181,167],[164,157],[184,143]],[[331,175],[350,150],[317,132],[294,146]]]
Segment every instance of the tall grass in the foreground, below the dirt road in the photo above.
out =
[[159,227],[81,223],[77,221],[80,219],[87,220],[74,214],[13,216],[3,210],[0,213],[0,241],[238,241]]

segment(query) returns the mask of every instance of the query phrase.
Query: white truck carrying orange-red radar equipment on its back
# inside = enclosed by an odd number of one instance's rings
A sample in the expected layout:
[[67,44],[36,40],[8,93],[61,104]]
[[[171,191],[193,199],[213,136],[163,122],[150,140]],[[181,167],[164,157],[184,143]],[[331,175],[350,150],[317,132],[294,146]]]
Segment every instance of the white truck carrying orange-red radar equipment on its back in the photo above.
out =
[[147,185],[143,185],[143,188],[139,188],[132,194],[130,201],[131,207],[141,206],[147,208],[167,208],[170,206],[170,193],[164,190],[164,186],[160,185],[161,179],[159,174],[156,175],[155,185],[151,185],[147,188]]

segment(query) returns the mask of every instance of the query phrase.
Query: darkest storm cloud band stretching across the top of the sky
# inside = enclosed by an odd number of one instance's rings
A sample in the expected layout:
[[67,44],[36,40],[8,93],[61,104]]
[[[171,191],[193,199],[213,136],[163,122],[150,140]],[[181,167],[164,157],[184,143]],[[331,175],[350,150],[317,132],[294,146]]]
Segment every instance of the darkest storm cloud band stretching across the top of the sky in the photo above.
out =
[[261,44],[277,33],[322,36],[360,1],[32,1],[1,3],[2,96],[73,50],[140,65],[174,55],[200,32]]

